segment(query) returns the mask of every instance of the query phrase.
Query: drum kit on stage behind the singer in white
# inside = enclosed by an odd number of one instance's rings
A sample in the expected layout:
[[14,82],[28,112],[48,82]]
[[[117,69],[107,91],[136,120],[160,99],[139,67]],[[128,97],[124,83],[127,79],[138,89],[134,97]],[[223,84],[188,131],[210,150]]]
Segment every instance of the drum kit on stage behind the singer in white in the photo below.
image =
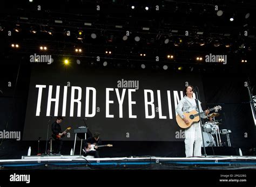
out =
[[228,146],[231,147],[231,142],[230,142],[231,130],[219,129],[219,125],[221,125],[221,120],[215,120],[215,117],[218,117],[219,115],[220,115],[219,113],[215,113],[215,112],[209,114],[208,117],[212,118],[213,120],[207,121],[203,125],[203,136],[204,136],[205,147],[225,146],[225,142],[221,141],[220,135],[227,136]]

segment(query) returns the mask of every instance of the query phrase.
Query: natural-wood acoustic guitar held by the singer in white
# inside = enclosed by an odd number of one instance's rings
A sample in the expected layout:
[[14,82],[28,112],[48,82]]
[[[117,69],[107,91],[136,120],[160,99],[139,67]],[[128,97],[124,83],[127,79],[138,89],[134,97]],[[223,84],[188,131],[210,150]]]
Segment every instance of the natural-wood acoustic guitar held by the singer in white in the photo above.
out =
[[[208,110],[209,111],[215,110],[215,112],[218,112],[218,110],[221,110],[221,106],[214,106],[213,108],[208,109]],[[200,115],[203,114],[203,113],[205,113],[205,111],[200,112]],[[176,121],[177,121],[177,124],[179,125],[180,128],[188,128],[192,124],[197,123],[200,120],[199,113],[196,110],[192,110],[189,113],[185,112],[183,114],[184,114],[185,118],[188,120],[189,123],[186,124],[185,121],[179,116],[179,114],[177,114]]]

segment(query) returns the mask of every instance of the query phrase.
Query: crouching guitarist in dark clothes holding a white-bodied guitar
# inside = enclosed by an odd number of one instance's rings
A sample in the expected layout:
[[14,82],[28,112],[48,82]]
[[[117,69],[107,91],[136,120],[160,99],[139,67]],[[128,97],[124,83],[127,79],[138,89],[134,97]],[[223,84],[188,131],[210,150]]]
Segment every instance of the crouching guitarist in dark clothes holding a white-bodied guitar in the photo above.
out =
[[[101,145],[102,144],[102,140],[99,138],[99,133],[94,133],[94,135],[90,138],[87,138],[86,140],[84,140],[84,150],[86,149],[91,149],[91,144],[95,144],[95,149],[98,149],[97,145]],[[89,152],[84,152],[83,154],[84,156],[87,155],[92,155],[95,158],[99,158],[99,152],[98,150],[90,150]]]

